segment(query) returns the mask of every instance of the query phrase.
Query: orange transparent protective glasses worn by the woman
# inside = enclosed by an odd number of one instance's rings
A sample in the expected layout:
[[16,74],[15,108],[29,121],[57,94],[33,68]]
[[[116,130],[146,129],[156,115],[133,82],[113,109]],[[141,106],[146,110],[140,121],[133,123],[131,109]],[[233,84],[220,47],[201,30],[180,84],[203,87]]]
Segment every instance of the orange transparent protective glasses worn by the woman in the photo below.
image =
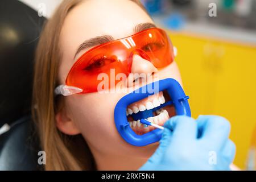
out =
[[125,73],[128,76],[134,54],[150,61],[156,68],[166,67],[174,61],[174,48],[166,32],[160,28],[149,28],[85,52],[69,71],[65,85],[57,86],[55,94],[69,96],[97,92],[102,81],[98,80],[98,75],[105,73],[110,77],[110,70],[114,69],[115,75]]

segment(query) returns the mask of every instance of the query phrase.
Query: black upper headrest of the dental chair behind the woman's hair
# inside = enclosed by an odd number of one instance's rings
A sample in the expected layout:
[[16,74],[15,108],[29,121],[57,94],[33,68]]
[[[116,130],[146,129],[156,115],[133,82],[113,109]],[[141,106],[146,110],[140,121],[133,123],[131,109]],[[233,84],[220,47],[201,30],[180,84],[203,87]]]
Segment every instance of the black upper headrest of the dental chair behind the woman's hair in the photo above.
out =
[[0,1],[0,127],[30,113],[34,54],[44,20],[22,2]]

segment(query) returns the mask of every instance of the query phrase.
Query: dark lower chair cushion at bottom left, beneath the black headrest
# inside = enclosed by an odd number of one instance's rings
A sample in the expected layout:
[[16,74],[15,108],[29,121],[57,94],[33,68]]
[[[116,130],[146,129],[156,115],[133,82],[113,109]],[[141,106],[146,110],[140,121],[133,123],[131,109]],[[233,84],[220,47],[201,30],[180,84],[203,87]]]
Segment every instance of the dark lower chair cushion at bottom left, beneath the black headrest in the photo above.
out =
[[0,135],[0,171],[43,170],[38,163],[39,143],[30,116],[12,123],[11,130]]

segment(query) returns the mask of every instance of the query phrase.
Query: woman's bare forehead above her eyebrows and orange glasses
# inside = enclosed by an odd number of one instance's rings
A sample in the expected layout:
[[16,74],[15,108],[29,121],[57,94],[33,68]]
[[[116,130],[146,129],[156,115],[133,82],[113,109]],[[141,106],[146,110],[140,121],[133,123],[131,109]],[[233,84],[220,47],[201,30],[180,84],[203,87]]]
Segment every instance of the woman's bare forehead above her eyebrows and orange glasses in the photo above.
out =
[[134,27],[145,22],[153,23],[150,16],[132,1],[84,1],[74,7],[65,18],[60,46],[64,56],[73,58],[77,48],[85,40],[101,35],[110,35],[114,39],[123,38],[134,34]]

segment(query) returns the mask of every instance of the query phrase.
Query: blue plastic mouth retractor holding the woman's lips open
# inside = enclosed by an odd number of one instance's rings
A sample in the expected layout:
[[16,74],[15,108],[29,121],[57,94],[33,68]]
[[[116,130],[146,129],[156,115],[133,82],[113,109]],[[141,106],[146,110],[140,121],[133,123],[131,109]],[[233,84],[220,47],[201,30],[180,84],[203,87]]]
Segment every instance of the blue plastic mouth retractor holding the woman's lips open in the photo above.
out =
[[[158,89],[154,86],[157,85]],[[152,92],[154,88],[154,92]],[[166,78],[164,80],[159,80],[152,82],[150,84],[144,85],[137,90],[123,96],[115,106],[114,109],[114,120],[115,126],[117,127],[118,133],[121,135],[126,142],[134,146],[146,146],[151,143],[158,142],[162,137],[163,130],[155,129],[143,135],[137,135],[130,127],[129,122],[126,117],[126,109],[130,104],[142,100],[150,95],[154,95],[160,91],[167,90],[171,100],[165,102],[164,104],[155,107],[151,110],[139,111],[137,114],[132,114],[134,120],[146,119],[153,116],[153,112],[166,106],[174,105],[176,115],[187,115],[191,117],[191,110],[188,104],[188,96],[185,95],[183,89],[181,88],[179,82],[173,78]]]

